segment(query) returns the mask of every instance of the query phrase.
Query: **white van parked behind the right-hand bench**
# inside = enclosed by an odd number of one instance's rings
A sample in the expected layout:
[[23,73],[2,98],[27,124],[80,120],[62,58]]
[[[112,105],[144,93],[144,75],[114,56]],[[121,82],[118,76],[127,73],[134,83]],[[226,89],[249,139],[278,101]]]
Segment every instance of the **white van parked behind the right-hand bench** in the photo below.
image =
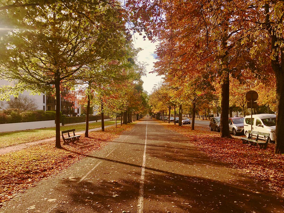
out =
[[[251,117],[250,115],[245,116],[244,120],[244,131],[247,138],[249,137],[248,130],[251,130]],[[272,143],[275,141],[275,127],[276,127],[276,115],[275,114],[256,114],[252,115],[252,131],[269,133],[270,140]],[[256,135],[252,135],[256,136]],[[267,139],[267,136],[259,135],[260,139]]]

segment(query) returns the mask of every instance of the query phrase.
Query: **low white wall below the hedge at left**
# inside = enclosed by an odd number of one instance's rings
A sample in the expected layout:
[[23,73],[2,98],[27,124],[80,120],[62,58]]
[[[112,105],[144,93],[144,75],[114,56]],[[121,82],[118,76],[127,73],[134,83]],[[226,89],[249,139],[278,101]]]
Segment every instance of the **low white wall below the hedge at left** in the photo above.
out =
[[[61,126],[61,124],[60,124]],[[19,130],[33,130],[46,127],[55,127],[54,120],[47,121],[35,121],[35,122],[23,122],[12,124],[0,124],[0,132],[11,132]]]

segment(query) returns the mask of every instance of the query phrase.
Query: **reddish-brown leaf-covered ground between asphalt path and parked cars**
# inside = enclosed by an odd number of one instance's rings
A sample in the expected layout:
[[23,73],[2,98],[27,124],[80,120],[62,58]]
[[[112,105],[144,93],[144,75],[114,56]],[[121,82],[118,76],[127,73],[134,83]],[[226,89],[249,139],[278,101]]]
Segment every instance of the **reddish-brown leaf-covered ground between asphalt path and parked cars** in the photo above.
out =
[[199,147],[212,159],[231,164],[233,168],[248,173],[258,180],[265,180],[272,190],[284,196],[284,154],[274,154],[274,144],[267,149],[242,144],[241,139],[224,139],[216,132],[191,130],[190,126],[162,123],[165,128],[182,133],[189,143]]

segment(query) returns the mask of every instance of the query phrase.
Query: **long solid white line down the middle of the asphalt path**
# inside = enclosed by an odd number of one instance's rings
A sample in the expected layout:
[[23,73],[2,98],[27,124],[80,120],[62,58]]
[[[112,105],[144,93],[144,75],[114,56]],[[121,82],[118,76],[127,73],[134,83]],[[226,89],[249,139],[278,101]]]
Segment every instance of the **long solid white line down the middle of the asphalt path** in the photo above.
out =
[[147,126],[148,122],[146,121],[146,136],[145,136],[145,146],[143,154],[143,163],[140,176],[140,187],[139,187],[139,197],[138,197],[138,213],[143,213],[143,199],[144,199],[144,179],[145,179],[145,164],[146,164],[146,145],[147,145]]

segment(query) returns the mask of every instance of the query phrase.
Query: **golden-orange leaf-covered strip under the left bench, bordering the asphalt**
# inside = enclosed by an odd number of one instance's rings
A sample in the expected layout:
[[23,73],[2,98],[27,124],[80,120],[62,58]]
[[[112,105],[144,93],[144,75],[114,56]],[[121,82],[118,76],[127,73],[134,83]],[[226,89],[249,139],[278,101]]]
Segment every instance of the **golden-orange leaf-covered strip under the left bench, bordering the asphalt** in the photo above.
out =
[[27,149],[0,155],[0,206],[13,195],[32,187],[38,181],[58,174],[87,154],[101,149],[117,138],[123,131],[129,131],[133,124],[106,128],[105,132],[90,132],[89,138],[81,135],[76,144],[54,147],[55,141],[35,145]]

